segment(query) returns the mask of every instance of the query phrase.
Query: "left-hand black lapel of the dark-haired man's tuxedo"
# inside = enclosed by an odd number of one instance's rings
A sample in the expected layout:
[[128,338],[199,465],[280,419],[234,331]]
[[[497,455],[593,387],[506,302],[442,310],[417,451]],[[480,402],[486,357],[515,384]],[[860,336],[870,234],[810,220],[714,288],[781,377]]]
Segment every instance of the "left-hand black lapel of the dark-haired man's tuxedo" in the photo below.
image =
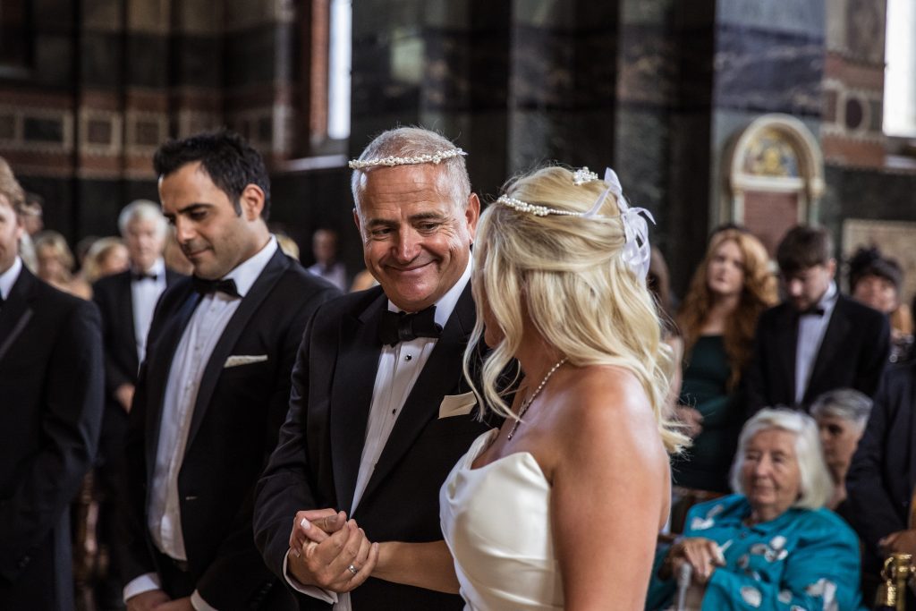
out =
[[[147,431],[151,434],[146,436],[147,439],[147,470],[149,481],[152,481],[152,470],[156,465],[156,451],[159,444],[159,428],[162,418],[163,401],[165,399],[166,386],[169,384],[169,371],[171,370],[172,360],[175,358],[175,351],[178,350],[178,344],[181,341],[181,335],[188,327],[191,321],[191,315],[201,301],[201,295],[191,289],[191,283],[186,287],[188,293],[181,302],[179,310],[163,323],[162,331],[158,333],[156,345],[156,357],[147,358],[147,385],[153,388],[153,400],[147,403]],[[148,354],[148,353],[147,353]]]

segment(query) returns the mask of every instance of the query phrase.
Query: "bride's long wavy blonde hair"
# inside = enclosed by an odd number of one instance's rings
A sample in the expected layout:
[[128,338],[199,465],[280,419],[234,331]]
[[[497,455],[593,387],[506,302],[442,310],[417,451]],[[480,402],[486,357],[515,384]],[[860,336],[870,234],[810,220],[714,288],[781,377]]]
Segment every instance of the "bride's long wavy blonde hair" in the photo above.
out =
[[[605,188],[602,180],[575,186],[573,172],[551,166],[511,180],[504,191],[523,202],[585,212]],[[671,348],[661,341],[645,281],[620,256],[624,227],[613,195],[598,214],[536,216],[500,203],[485,210],[474,241],[477,321],[464,352],[464,374],[481,405],[515,419],[500,380],[521,344],[527,311],[545,341],[573,366],[620,366],[637,376],[665,448],[676,453],[689,442],[668,420]],[[479,358],[485,307],[504,337],[485,356],[478,389],[471,368]]]

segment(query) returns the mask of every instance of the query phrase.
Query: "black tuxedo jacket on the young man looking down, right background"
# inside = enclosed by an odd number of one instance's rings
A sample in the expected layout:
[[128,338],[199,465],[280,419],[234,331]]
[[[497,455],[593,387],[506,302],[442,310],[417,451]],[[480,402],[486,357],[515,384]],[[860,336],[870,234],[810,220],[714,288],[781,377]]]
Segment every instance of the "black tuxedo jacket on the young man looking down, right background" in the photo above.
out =
[[801,405],[795,403],[798,328],[799,316],[789,303],[760,316],[747,372],[751,414],[780,405],[807,409],[818,395],[835,388],[856,388],[869,397],[875,394],[890,355],[887,316],[845,295],[837,296]]

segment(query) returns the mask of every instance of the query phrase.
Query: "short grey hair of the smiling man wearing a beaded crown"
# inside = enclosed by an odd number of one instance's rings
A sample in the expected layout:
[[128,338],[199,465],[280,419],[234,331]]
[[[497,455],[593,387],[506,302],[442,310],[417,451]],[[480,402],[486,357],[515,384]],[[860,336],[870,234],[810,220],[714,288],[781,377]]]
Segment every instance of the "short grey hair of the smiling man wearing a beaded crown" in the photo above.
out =
[[[422,127],[398,127],[382,132],[359,156],[360,160],[383,157],[419,157],[420,155],[433,155],[437,152],[452,150],[454,143],[439,134]],[[463,211],[467,208],[468,198],[471,196],[471,179],[467,175],[463,155],[443,159],[439,164],[439,185],[442,191],[451,193],[455,210]],[[350,178],[350,190],[353,191],[353,201],[356,212],[360,212],[360,195],[362,194],[363,172],[373,171],[375,168],[354,169]]]

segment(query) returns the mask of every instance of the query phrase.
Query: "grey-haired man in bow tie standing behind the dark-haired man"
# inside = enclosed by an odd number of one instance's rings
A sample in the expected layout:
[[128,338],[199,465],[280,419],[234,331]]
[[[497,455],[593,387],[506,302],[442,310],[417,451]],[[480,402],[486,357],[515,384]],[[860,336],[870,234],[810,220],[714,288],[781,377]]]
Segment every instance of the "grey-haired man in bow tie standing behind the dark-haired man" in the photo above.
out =
[[108,550],[107,574],[96,584],[96,601],[104,608],[120,606],[124,587],[114,529],[115,499],[123,479],[127,413],[134,398],[136,373],[147,351],[147,333],[159,295],[181,278],[162,259],[169,225],[158,205],[147,200],[130,202],[118,215],[130,268],[93,284],[93,301],[102,314],[105,352],[105,412],[99,440],[95,486],[100,497],[97,536]]

